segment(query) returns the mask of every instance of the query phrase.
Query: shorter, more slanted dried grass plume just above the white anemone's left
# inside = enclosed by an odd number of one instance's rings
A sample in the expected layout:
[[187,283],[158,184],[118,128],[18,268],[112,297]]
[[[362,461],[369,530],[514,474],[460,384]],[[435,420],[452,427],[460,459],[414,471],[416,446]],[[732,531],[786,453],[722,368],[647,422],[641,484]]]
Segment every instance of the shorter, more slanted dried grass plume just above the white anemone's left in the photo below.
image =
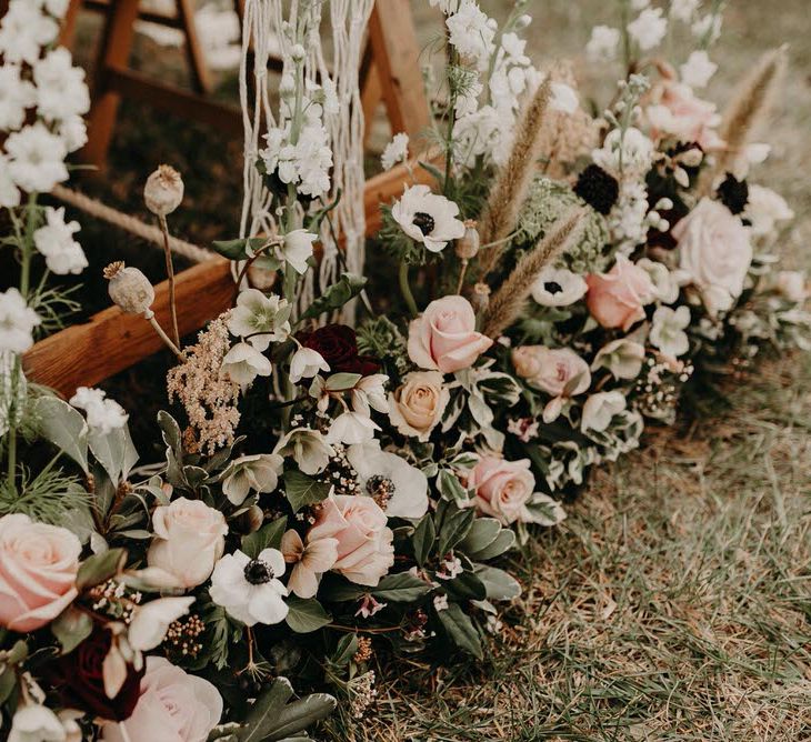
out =
[[575,209],[560,219],[534,249],[521,258],[490,300],[482,323],[485,335],[498,338],[518,319],[539,273],[565,251],[580,231],[583,213],[583,209]]

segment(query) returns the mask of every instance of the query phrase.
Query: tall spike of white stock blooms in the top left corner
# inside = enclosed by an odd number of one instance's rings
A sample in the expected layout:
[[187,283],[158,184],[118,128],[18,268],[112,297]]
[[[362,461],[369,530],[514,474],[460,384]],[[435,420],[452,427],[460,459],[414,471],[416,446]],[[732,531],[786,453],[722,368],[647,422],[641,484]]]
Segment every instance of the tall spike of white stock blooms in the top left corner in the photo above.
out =
[[[54,48],[64,0],[11,0],[0,21],[0,205],[47,192],[68,179],[64,159],[87,141],[84,72]],[[76,261],[73,261],[73,264]]]

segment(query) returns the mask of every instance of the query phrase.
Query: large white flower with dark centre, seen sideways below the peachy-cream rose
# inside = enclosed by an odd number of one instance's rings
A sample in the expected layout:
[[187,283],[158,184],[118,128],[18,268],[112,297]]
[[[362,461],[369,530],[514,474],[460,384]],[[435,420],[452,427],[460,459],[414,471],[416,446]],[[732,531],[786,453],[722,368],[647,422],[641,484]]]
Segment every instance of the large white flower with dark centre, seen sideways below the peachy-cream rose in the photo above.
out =
[[422,518],[428,512],[428,479],[406,459],[372,441],[350,445],[347,459],[361,492],[379,501],[389,518]]

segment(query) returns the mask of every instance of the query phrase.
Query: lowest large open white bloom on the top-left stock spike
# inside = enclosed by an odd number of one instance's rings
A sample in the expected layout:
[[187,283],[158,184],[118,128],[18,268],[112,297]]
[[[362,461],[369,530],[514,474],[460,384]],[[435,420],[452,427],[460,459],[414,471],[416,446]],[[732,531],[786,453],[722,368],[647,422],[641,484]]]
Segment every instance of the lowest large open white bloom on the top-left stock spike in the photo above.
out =
[[57,183],[68,180],[64,142],[38,121],[6,140],[9,173],[23,191],[49,192]]

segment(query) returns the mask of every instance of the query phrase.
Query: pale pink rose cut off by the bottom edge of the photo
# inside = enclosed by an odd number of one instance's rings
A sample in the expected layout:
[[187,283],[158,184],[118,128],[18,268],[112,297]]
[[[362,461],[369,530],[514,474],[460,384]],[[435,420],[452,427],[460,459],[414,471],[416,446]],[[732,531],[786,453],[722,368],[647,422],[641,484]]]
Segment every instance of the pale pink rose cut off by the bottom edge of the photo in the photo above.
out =
[[103,742],[206,742],[222,715],[217,689],[162,656],[147,658],[141,696],[132,715],[106,723]]

